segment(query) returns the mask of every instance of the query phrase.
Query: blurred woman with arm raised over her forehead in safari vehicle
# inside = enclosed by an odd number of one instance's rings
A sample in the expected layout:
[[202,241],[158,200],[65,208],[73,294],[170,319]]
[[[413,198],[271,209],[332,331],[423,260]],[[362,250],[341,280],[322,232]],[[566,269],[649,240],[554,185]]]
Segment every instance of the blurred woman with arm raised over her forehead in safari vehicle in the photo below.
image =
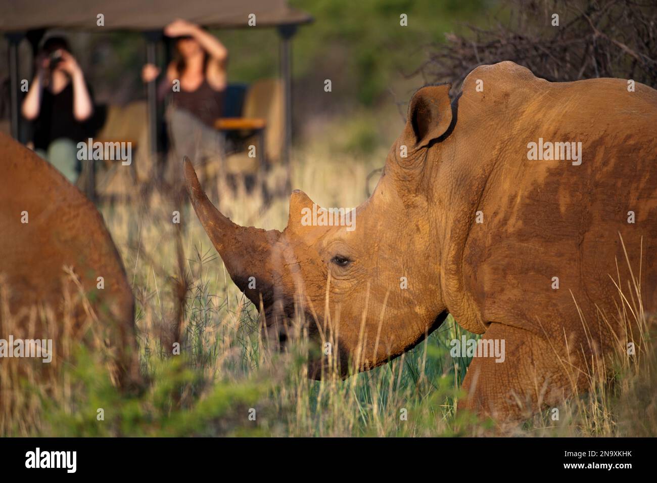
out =
[[[228,51],[214,35],[186,20],[174,20],[164,34],[175,39],[175,56],[158,85],[158,100],[168,103],[165,119],[175,158],[187,155],[200,167],[223,150],[214,121],[223,114]],[[143,67],[143,81],[159,75],[153,64]],[[180,164],[171,162],[169,167],[167,177],[179,181]]]

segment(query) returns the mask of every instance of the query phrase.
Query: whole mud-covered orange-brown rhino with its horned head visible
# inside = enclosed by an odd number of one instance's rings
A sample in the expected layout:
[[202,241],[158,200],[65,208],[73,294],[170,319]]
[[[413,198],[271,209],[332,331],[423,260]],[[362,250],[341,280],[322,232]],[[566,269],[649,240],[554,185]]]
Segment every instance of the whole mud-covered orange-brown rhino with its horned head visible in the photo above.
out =
[[[640,342],[635,324],[617,320],[612,278],[631,300],[626,250],[643,308],[655,310],[656,128],[650,87],[551,83],[501,62],[473,70],[453,102],[449,85],[415,93],[353,231],[303,225],[312,202],[300,191],[284,231],[240,227],[212,206],[189,160],[185,177],[198,218],[269,333],[300,306],[314,336],[332,334],[343,361],[367,370],[451,313],[464,329],[505,341],[504,362],[473,359],[459,408],[517,419],[585,390],[593,354]],[[581,142],[581,164],[529,160],[528,143],[539,138]]]

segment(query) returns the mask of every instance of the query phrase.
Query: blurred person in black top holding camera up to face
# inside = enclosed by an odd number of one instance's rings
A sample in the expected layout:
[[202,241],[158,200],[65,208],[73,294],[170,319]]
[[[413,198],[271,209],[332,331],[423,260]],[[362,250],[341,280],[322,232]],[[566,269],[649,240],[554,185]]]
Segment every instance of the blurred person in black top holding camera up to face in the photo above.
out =
[[77,144],[91,134],[91,92],[66,39],[47,39],[36,62],[22,114],[33,122],[35,152],[75,183],[81,168]]

